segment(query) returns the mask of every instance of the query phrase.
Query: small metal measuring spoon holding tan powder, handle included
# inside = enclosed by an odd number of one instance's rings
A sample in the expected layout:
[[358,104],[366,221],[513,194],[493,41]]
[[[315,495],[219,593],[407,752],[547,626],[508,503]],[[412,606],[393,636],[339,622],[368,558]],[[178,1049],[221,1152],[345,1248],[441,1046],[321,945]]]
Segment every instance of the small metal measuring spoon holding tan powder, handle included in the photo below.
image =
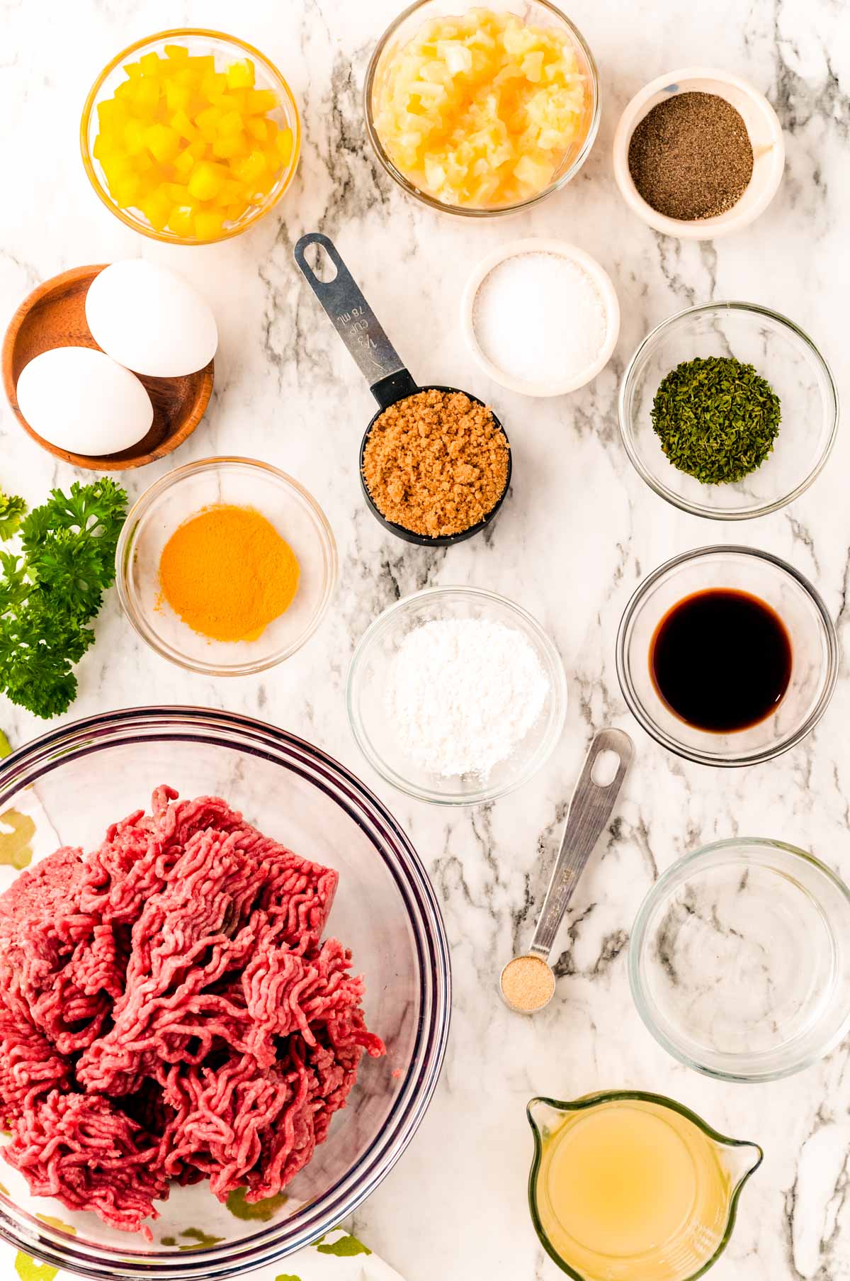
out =
[[[554,972],[549,965],[552,944],[579,877],[611,817],[634,751],[631,739],[620,729],[600,730],[590,744],[584,769],[572,793],[561,849],[552,871],[547,897],[543,901],[531,947],[527,952],[508,961],[499,976],[499,991],[509,1009],[534,1015],[538,1009],[548,1006],[554,995]],[[593,772],[603,752],[613,752],[618,757],[618,763],[611,783],[600,785],[594,783]],[[508,995],[511,991],[517,999],[511,999]]]

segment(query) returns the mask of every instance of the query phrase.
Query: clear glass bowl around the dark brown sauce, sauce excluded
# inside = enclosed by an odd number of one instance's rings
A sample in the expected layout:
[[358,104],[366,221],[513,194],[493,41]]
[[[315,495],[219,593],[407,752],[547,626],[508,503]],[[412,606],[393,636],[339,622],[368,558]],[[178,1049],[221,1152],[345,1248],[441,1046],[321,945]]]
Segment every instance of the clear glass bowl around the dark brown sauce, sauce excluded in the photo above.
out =
[[[655,689],[649,653],[668,610],[695,592],[748,592],[782,619],[791,678],[776,711],[749,729],[712,733],[680,720]],[[838,638],[812,584],[785,561],[750,547],[699,547],[675,556],[640,584],[617,633],[617,676],[632,716],[657,743],[700,765],[758,765],[800,743],[823,716],[838,675]]]

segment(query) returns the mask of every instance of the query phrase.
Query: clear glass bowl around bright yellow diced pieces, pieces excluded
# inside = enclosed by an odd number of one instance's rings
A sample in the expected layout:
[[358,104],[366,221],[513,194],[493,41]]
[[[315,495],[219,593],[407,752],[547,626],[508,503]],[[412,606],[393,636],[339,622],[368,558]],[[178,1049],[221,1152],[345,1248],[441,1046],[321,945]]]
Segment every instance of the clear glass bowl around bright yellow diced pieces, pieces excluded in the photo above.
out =
[[[100,102],[106,101],[106,99],[113,97],[116,87],[125,79],[124,63],[129,59],[138,59],[143,54],[161,54],[165,45],[172,44],[186,45],[192,56],[212,55],[216,70],[221,70],[230,63],[239,61],[243,58],[250,58],[256,69],[256,88],[273,90],[278,96],[278,108],[275,111],[269,113],[270,119],[282,129],[292,129],[292,155],[269,195],[261,204],[250,205],[241,218],[234,222],[227,222],[221,233],[210,240],[198,240],[196,236],[177,236],[168,228],[157,231],[156,227],[151,225],[141,209],[119,209],[110,195],[102,167],[93,154],[95,138],[99,131],[97,106]],[[301,119],[292,90],[278,68],[259,49],[255,49],[253,45],[248,45],[236,36],[227,36],[221,31],[209,31],[205,27],[174,27],[172,31],[160,31],[155,36],[146,36],[145,40],[134,41],[127,49],[122,49],[120,54],[116,54],[104,67],[86,99],[79,124],[79,149],[92,187],[106,208],[116,218],[120,218],[127,227],[132,227],[133,231],[141,232],[142,236],[150,236],[152,240],[164,241],[168,245],[215,245],[219,241],[229,240],[232,236],[238,236],[241,232],[247,231],[248,227],[252,227],[257,219],[268,214],[280,200],[298,168]]]

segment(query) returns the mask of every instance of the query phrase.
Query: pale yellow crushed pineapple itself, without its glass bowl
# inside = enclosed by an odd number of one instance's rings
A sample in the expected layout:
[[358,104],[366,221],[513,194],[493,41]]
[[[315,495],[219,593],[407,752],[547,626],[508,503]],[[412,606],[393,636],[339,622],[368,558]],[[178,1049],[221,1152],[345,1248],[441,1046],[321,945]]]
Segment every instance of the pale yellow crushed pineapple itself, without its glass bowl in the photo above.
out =
[[566,32],[509,13],[431,18],[384,55],[378,136],[396,168],[447,205],[515,205],[549,186],[590,124]]

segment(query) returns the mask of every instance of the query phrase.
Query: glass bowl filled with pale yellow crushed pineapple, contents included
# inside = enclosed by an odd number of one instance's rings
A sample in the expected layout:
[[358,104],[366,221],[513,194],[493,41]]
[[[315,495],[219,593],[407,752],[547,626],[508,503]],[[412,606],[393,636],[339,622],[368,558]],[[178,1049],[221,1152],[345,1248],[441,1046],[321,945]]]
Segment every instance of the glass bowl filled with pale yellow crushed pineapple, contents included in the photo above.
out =
[[366,132],[411,196],[471,218],[559,191],[599,128],[599,77],[549,0],[417,0],[384,32],[365,83]]

